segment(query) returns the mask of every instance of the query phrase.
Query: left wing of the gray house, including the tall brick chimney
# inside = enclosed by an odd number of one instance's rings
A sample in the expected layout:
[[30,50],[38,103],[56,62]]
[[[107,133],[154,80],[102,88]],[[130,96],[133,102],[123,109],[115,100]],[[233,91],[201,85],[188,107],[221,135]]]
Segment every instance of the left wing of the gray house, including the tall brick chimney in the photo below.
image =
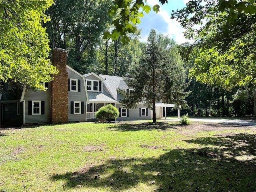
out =
[[55,48],[53,62],[59,73],[46,91],[4,84],[1,96],[1,124],[24,125],[86,120],[88,94],[82,74],[66,65],[66,52]]

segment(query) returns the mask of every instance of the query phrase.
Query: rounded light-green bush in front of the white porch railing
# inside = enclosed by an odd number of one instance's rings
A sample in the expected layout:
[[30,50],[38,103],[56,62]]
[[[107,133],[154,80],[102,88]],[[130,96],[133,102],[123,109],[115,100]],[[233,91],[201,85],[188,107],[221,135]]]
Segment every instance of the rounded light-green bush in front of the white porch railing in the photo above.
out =
[[101,107],[96,112],[96,118],[104,119],[104,121],[110,122],[111,119],[115,119],[119,116],[119,111],[112,104]]

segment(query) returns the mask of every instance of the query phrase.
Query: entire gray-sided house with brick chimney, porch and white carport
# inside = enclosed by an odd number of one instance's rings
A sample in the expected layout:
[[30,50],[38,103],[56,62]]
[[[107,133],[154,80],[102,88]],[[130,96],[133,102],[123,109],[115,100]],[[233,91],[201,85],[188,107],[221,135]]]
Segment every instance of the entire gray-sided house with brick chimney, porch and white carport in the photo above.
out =
[[[55,48],[52,64],[59,73],[50,83],[45,82],[46,91],[32,90],[18,84],[4,84],[1,93],[1,124],[24,125],[40,123],[66,123],[96,121],[96,111],[112,104],[119,110],[117,121],[149,120],[152,110],[139,105],[136,109],[126,109],[120,103],[118,89],[130,91],[122,77],[80,74],[66,61],[67,52]],[[156,104],[157,118],[163,118],[166,107],[172,104]]]

